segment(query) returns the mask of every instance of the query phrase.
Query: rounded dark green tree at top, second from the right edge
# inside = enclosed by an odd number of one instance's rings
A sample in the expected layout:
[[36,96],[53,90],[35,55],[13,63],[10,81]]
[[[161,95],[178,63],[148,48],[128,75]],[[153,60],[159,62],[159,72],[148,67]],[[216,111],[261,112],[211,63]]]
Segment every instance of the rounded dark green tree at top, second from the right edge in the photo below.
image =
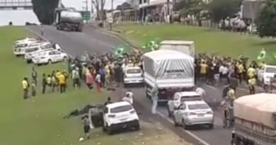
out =
[[234,16],[241,6],[241,0],[212,0],[207,4],[209,18],[214,23],[224,20],[227,16]]

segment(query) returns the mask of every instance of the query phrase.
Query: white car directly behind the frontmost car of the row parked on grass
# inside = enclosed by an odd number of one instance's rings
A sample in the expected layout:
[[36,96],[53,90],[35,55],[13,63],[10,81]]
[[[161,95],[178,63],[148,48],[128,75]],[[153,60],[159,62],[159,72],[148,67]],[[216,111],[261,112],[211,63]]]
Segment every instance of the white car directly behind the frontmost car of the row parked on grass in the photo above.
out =
[[30,63],[34,56],[37,56],[40,52],[45,52],[45,50],[54,50],[54,48],[48,42],[42,43],[38,46],[29,47],[28,50],[25,50],[24,59],[27,63]]

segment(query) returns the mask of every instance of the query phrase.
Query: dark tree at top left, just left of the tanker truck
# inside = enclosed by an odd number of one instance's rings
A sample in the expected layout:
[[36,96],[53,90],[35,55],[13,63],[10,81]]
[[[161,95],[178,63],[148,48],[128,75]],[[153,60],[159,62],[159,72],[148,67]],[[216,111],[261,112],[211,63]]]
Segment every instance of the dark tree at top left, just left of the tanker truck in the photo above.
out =
[[59,0],[32,0],[33,12],[40,23],[51,25],[54,22],[54,9]]

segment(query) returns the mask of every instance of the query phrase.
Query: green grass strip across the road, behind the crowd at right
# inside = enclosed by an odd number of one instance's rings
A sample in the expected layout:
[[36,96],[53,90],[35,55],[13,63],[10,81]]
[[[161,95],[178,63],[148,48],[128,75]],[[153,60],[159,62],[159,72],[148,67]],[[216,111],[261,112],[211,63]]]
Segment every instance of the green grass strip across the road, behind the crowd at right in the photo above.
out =
[[[276,52],[276,41],[252,35],[241,35],[209,28],[185,25],[117,25],[122,36],[137,47],[149,40],[194,40],[196,52],[219,53],[221,56],[243,55],[256,59],[264,47],[267,53]],[[275,61],[276,62],[276,61]]]

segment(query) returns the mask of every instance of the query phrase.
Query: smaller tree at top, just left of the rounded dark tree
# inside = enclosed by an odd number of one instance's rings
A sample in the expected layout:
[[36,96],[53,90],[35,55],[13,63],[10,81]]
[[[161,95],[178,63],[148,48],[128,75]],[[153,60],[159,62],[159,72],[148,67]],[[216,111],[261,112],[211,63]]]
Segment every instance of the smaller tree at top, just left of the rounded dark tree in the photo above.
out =
[[183,16],[195,16],[198,25],[201,25],[200,18],[203,6],[204,4],[202,3],[202,0],[180,0],[174,7],[174,10],[179,11]]

